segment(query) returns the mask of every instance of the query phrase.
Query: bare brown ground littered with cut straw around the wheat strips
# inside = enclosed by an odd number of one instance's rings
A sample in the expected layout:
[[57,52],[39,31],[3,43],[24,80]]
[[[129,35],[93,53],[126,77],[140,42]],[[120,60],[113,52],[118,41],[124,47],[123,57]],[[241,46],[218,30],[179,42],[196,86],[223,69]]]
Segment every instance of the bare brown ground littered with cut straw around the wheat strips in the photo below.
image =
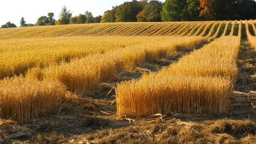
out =
[[256,52],[246,40],[242,40],[237,83],[227,113],[163,113],[146,118],[116,115],[114,90],[108,92],[117,83],[157,72],[186,53],[189,51],[176,52],[133,71],[122,71],[95,91],[69,92],[67,96],[72,98],[55,112],[19,124],[30,134],[17,138],[16,143],[256,143]]

